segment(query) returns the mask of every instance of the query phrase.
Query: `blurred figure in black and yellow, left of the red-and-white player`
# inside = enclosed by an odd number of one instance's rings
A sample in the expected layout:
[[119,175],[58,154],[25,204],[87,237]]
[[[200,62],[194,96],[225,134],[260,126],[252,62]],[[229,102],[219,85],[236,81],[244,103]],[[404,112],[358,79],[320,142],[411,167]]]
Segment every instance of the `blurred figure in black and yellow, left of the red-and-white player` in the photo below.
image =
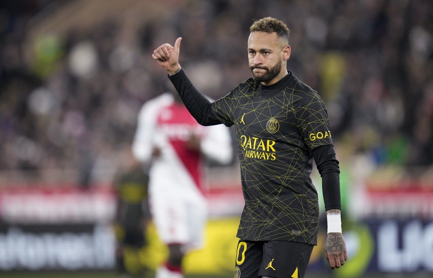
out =
[[149,176],[129,148],[128,167],[115,179],[118,193],[116,218],[117,269],[120,277],[143,277],[148,271],[142,256],[150,220],[147,197]]

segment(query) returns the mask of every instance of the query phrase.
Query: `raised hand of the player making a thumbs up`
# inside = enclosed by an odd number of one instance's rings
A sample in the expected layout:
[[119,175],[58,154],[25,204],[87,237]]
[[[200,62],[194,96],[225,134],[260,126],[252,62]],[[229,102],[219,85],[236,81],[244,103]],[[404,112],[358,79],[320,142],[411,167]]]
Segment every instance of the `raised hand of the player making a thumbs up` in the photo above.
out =
[[173,75],[181,70],[181,65],[179,64],[181,41],[182,38],[179,37],[174,47],[170,44],[163,44],[153,51],[152,58],[167,70],[169,75]]

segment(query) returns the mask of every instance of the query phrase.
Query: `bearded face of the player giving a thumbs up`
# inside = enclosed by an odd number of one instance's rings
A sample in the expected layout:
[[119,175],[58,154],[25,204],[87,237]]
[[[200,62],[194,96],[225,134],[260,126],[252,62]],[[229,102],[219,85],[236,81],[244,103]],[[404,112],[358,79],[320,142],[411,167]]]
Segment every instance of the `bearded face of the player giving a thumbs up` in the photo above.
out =
[[249,69],[255,81],[272,85],[280,80],[287,72],[289,56],[290,46],[282,44],[276,33],[252,32],[249,35]]

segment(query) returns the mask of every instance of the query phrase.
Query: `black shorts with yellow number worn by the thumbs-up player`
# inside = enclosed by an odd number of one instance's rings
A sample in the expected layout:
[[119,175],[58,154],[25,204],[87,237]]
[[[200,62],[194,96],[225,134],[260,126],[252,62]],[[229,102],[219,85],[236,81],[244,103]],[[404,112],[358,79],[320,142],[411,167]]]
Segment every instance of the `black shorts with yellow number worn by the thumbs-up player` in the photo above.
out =
[[313,245],[283,241],[240,240],[235,278],[303,278]]

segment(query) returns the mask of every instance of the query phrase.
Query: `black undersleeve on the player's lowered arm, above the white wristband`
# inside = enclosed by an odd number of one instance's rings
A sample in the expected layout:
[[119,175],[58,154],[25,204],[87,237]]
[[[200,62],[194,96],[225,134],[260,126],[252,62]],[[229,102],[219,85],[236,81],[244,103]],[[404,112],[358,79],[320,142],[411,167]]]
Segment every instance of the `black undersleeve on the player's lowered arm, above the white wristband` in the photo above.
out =
[[322,177],[322,192],[325,210],[341,210],[340,167],[335,158],[334,147],[324,145],[312,150],[317,170]]

